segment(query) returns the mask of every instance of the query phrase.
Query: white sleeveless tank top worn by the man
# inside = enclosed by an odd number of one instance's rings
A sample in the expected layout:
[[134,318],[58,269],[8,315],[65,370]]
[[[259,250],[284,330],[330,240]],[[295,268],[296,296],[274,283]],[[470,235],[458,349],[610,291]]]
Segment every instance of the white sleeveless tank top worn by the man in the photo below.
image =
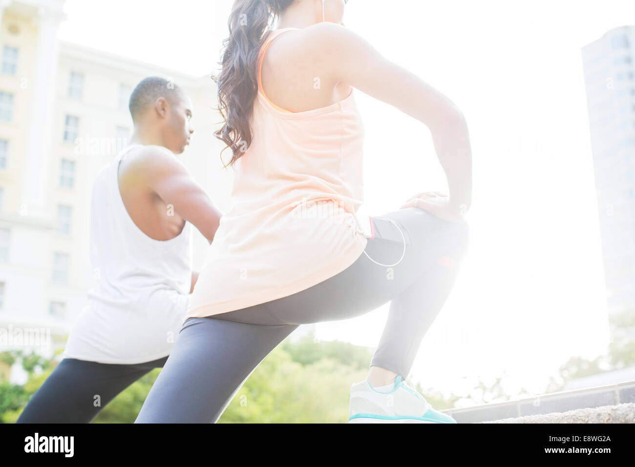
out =
[[133,222],[119,192],[119,161],[98,173],[91,196],[91,265],[97,286],[70,332],[63,357],[143,363],[170,354],[192,283],[192,225],[154,240]]

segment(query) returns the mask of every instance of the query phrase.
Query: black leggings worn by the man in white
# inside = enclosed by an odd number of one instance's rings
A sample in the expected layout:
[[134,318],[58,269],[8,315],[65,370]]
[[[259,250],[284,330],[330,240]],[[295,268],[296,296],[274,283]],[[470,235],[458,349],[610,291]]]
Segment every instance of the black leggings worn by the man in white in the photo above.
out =
[[17,423],[89,423],[121,391],[167,356],[135,365],[64,358],[30,398]]

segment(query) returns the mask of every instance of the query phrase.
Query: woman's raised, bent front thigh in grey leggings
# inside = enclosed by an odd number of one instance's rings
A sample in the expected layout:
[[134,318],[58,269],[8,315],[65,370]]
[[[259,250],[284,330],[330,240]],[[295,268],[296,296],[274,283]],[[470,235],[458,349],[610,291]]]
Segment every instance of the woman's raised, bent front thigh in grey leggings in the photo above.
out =
[[[368,256],[362,253],[341,273],[297,294],[267,302],[264,307],[281,322],[290,324],[363,315],[398,297],[433,263],[454,254],[467,238],[464,220],[442,220],[420,208],[406,208],[380,217],[393,220],[397,226],[384,223],[382,235],[368,240],[365,250]],[[405,252],[403,240],[392,240],[401,238],[399,230],[406,240]],[[389,267],[380,265],[396,262]]]

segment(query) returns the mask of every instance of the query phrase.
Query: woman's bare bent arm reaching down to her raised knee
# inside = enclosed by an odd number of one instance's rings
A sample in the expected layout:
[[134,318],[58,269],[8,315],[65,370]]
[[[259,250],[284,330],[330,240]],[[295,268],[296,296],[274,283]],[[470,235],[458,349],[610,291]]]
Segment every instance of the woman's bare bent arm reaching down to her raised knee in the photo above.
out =
[[416,118],[429,128],[450,190],[450,203],[463,212],[472,202],[472,151],[462,112],[443,93],[396,65],[351,30],[320,23],[305,29],[307,56],[324,64],[333,85],[354,88]]

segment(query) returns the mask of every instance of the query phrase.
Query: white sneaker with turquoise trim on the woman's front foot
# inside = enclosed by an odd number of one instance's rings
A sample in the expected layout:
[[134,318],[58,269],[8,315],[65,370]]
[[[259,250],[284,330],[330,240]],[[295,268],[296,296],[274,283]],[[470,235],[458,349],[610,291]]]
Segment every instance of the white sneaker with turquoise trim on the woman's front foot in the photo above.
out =
[[394,389],[380,393],[368,380],[351,385],[349,423],[457,423],[443,412],[432,409],[424,396],[411,388],[401,375]]

